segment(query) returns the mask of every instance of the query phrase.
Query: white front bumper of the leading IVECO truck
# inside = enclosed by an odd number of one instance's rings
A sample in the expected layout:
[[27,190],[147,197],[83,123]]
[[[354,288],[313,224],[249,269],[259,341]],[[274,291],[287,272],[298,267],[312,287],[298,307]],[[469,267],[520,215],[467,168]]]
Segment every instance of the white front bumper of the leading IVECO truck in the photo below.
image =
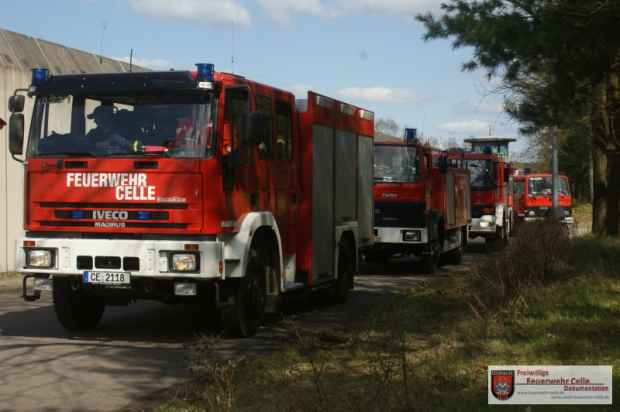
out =
[[[24,242],[34,242],[35,246],[25,248]],[[160,252],[183,253],[186,245],[197,248],[199,254],[199,270],[195,273],[171,272],[160,261]],[[26,263],[26,249],[47,249],[55,253],[54,266],[51,269],[29,268]],[[218,279],[223,277],[220,268],[223,265],[223,244],[217,240],[117,240],[117,239],[46,239],[25,238],[17,243],[16,266],[23,274],[44,274],[81,276],[88,270],[129,272],[134,278],[187,278],[187,279]],[[78,266],[78,257],[92,257],[92,268]],[[126,270],[121,267],[97,267],[96,257],[137,258],[139,268]]]

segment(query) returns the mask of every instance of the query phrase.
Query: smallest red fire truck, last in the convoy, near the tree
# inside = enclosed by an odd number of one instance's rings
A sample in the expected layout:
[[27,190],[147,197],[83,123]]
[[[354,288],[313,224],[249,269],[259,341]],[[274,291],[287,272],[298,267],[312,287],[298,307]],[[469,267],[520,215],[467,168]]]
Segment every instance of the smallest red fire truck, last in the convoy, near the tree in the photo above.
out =
[[[550,173],[519,173],[514,177],[515,209],[518,222],[544,219],[551,212],[553,178]],[[562,222],[572,224],[572,203],[568,177],[560,176],[558,204]]]

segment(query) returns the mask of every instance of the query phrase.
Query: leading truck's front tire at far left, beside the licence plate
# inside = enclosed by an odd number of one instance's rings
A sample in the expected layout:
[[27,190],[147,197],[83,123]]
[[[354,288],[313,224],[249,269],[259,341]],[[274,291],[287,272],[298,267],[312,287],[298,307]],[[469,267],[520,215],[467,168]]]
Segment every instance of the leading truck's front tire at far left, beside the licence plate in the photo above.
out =
[[70,331],[94,329],[105,311],[102,297],[73,290],[71,279],[54,278],[54,311],[60,324]]

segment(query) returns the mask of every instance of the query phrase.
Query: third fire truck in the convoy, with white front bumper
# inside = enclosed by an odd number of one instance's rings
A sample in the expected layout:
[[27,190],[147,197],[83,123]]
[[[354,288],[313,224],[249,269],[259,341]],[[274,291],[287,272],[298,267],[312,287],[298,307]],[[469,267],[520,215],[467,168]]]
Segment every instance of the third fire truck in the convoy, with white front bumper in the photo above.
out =
[[512,170],[508,145],[515,139],[468,139],[469,152],[453,151],[452,161],[471,173],[471,238],[506,244],[514,224]]

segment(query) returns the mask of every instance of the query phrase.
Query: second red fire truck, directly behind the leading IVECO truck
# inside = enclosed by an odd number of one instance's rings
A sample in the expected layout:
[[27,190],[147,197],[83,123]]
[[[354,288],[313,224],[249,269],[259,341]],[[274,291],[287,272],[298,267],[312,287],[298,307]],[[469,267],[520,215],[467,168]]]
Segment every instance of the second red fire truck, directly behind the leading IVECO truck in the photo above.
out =
[[469,173],[448,168],[445,152],[406,139],[375,143],[375,245],[371,260],[396,254],[422,257],[433,273],[443,256],[461,260],[469,224]]

